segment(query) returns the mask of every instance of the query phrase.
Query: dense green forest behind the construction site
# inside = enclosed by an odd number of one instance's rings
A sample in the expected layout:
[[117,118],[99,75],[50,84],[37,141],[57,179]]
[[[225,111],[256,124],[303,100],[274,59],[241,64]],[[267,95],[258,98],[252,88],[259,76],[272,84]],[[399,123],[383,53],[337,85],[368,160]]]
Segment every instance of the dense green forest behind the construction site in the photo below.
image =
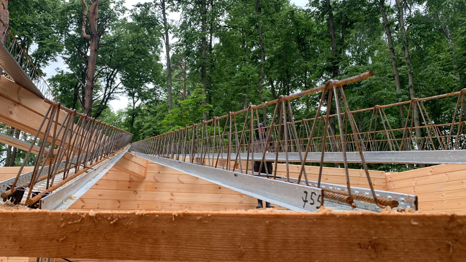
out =
[[[64,62],[46,76],[58,100],[133,133],[133,141],[368,70],[375,76],[345,89],[351,109],[465,87],[466,0],[0,3],[0,18],[42,73]],[[113,111],[110,102],[122,96],[129,103]],[[295,119],[314,117],[319,98],[295,100]],[[444,123],[454,103],[426,108]],[[392,128],[407,110],[385,111]],[[370,119],[358,122],[364,129]],[[23,155],[0,145],[0,165],[20,165]]]

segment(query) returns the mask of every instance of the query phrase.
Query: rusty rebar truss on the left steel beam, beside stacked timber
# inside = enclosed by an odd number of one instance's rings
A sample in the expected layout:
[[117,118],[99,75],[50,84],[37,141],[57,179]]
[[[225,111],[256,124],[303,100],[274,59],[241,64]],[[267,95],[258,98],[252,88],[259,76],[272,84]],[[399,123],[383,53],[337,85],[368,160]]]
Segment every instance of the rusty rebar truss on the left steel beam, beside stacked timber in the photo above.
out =
[[[59,195],[52,193],[62,186],[77,188],[78,184],[70,184],[83,181],[82,177],[90,177],[91,170],[114,163],[109,159],[121,157],[123,147],[132,138],[132,134],[126,131],[63,107],[60,103],[45,101],[49,108],[16,177],[0,183],[0,196],[4,201],[36,208],[40,200],[49,195]],[[21,175],[38,140],[41,144],[34,170]],[[45,202],[51,203],[53,198]]]

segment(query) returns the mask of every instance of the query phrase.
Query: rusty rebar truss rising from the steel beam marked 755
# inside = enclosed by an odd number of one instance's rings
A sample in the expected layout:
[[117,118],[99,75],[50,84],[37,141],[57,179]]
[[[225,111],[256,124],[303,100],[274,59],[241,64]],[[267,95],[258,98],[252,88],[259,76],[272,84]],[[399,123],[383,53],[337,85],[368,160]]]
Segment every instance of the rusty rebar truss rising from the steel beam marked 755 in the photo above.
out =
[[[391,196],[385,198],[380,194],[377,194],[369,175],[363,146],[358,139],[359,132],[357,131],[351,110],[349,110],[349,105],[343,91],[343,85],[368,78],[372,75],[373,73],[370,71],[343,80],[329,80],[325,85],[310,90],[290,96],[280,96],[278,99],[260,105],[251,105],[244,110],[229,112],[227,115],[222,117],[214,117],[213,119],[203,121],[199,124],[193,124],[153,138],[137,141],[131,145],[130,150],[158,157],[157,160],[159,162],[165,161],[167,162],[166,164],[171,167],[183,165],[183,162],[189,162],[191,164],[196,163],[197,165],[204,166],[204,168],[206,168],[205,172],[219,172],[216,169],[209,169],[213,167],[248,175],[241,176],[244,178],[248,177],[248,179],[250,175],[257,176],[258,178],[266,177],[266,179],[257,179],[256,183],[265,183],[263,181],[271,180],[268,178],[273,178],[274,180],[283,180],[287,183],[292,183],[293,185],[303,184],[303,186],[319,188],[322,189],[323,199],[337,201],[350,208],[357,207],[355,200],[363,201],[369,205],[377,207],[372,208],[373,210],[380,210],[380,208],[387,206],[392,208],[401,207],[400,201],[398,200],[403,199],[401,202],[404,202],[405,199],[411,199],[412,201],[407,206],[416,209],[417,207],[414,196],[407,197],[407,195],[404,195],[400,197],[400,199],[394,200]],[[313,122],[306,141],[307,144],[304,145],[302,139],[298,137],[290,100],[321,91],[322,95],[315,116],[315,119],[324,120],[322,125],[323,138],[321,139],[321,146],[319,147],[321,149],[321,159],[319,160],[320,172],[318,181],[315,182],[315,185],[311,186],[314,182],[308,180],[304,166],[307,162],[308,155],[313,158],[312,154],[315,152],[315,148],[313,148],[312,143],[313,139],[311,138],[314,138],[314,134],[317,133],[317,121]],[[335,99],[332,97],[335,97]],[[340,101],[343,101],[343,105],[340,105]],[[347,143],[343,136],[327,138],[327,131],[331,129],[329,120],[333,103],[335,103],[335,117],[338,120],[339,133],[341,134],[344,133],[342,110],[345,112],[345,116],[348,119],[347,121],[351,126],[351,134],[354,137],[354,148],[356,149],[356,153],[347,152]],[[272,115],[268,115],[267,106],[271,105],[275,105],[274,111]],[[323,106],[326,107],[326,114],[321,117],[320,113]],[[263,119],[259,117],[259,110],[262,110]],[[240,124],[237,123],[237,118],[240,118]],[[271,119],[270,124],[261,123],[268,119]],[[221,121],[223,123],[221,123]],[[244,124],[241,125],[241,123]],[[239,131],[240,129],[242,129],[242,131]],[[273,134],[273,131],[276,132]],[[338,143],[341,144],[342,159],[340,160],[343,160],[342,162],[344,164],[347,184],[346,190],[336,190],[334,188],[326,189],[321,183],[322,168],[323,163],[325,162],[325,149],[327,147],[326,144],[328,139],[337,139]],[[290,153],[294,153],[294,159],[290,159]],[[357,162],[362,164],[370,187],[369,195],[353,193],[350,186],[348,163],[356,160],[354,158],[348,159],[348,154],[355,154]],[[171,160],[169,161],[165,159]],[[270,162],[267,162],[267,160],[272,160],[274,162],[274,167]],[[243,161],[245,161],[245,163],[243,163]],[[252,167],[253,163],[251,163],[251,161],[254,161],[254,168]],[[176,164],[176,162],[178,162],[178,164]],[[286,177],[277,176],[277,165],[279,162],[284,162],[286,164]],[[293,179],[290,179],[289,177],[288,166],[291,162],[301,163],[301,171],[296,181],[293,181]],[[231,165],[232,163],[234,163],[233,166]],[[240,165],[239,169],[235,167],[236,164]],[[244,165],[246,165],[246,167],[244,167]],[[184,172],[188,172],[195,176],[205,176],[200,170],[199,172],[193,172],[186,168],[183,168],[183,170]],[[209,177],[209,179],[212,178]],[[212,179],[212,181],[214,180],[215,179]],[[222,183],[226,187],[230,187],[232,189],[236,188],[238,182],[231,182],[233,184]],[[270,191],[273,191],[273,189]],[[246,193],[246,190],[240,192]],[[247,194],[254,196],[256,193],[254,193],[254,190],[250,190]],[[264,197],[265,199],[267,196],[261,197]],[[282,195],[278,198],[274,198],[274,202],[281,201],[281,198],[287,197],[288,196]],[[323,201],[323,203],[325,205],[327,201]]]

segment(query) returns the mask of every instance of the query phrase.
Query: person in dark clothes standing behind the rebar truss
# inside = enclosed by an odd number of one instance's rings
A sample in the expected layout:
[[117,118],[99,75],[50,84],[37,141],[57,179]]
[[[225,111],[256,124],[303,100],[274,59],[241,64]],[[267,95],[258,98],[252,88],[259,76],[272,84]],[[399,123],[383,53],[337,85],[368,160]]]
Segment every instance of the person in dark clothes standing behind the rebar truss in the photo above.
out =
[[[260,153],[260,156],[262,156],[262,152],[266,149],[266,141],[267,141],[267,128],[265,128],[264,124],[258,124],[257,130],[256,130],[256,135],[254,138],[254,153]],[[274,138],[270,136],[268,139],[269,145],[267,145],[267,151],[266,152],[273,152],[274,151]],[[261,161],[254,161],[254,172],[259,172],[260,168],[260,162]],[[266,162],[264,161],[262,163],[262,170],[260,171],[261,175],[271,175],[272,174],[272,162]],[[257,207],[256,208],[262,208],[262,200],[257,199]],[[265,202],[265,207],[267,208],[274,208],[274,206],[270,205],[269,202]]]

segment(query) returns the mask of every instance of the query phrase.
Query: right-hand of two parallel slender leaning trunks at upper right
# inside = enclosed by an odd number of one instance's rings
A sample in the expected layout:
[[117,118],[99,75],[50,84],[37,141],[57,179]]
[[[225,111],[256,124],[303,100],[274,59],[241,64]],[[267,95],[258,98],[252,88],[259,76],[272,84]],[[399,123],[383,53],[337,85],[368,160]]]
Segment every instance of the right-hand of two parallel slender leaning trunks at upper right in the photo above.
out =
[[[408,48],[408,38],[406,36],[406,31],[404,29],[404,17],[403,17],[403,7],[401,6],[400,0],[395,0],[398,7],[398,19],[400,23],[401,34],[403,36],[403,45],[404,45],[404,59],[406,61],[406,67],[408,68],[408,86],[409,86],[409,94],[411,99],[416,98],[416,92],[414,90],[414,76],[412,75],[412,66],[411,66],[411,59],[409,56],[409,48]],[[419,110],[417,106],[414,106],[413,109],[414,115],[414,125],[419,126]],[[421,138],[421,130],[416,128],[416,137]],[[418,143],[418,147],[420,147],[420,143]],[[420,150],[420,148],[419,148]]]

